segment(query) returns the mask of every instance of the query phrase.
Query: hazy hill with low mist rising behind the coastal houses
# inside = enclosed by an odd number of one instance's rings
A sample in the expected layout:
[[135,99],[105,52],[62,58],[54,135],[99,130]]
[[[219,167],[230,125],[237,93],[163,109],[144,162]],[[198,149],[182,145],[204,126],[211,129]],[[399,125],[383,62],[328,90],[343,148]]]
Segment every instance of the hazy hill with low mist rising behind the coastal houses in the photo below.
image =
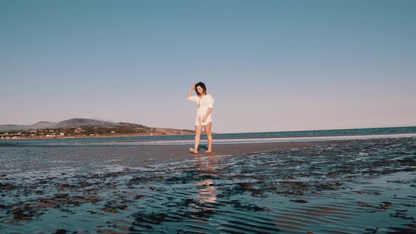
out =
[[26,131],[26,130],[37,130],[45,128],[68,128],[68,127],[110,127],[116,126],[118,123],[111,123],[106,121],[97,121],[89,118],[71,118],[66,121],[59,123],[52,123],[47,121],[41,121],[32,125],[0,125],[0,133],[15,132],[15,131]]

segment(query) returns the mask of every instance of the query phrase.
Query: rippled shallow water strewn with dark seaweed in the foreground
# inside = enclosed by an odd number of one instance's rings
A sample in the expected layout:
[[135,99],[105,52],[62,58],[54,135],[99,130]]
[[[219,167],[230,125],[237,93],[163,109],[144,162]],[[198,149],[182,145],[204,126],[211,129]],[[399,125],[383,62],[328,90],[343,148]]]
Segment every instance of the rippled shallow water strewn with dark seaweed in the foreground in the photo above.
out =
[[0,232],[416,230],[415,156],[415,137],[170,162],[128,146],[1,147]]

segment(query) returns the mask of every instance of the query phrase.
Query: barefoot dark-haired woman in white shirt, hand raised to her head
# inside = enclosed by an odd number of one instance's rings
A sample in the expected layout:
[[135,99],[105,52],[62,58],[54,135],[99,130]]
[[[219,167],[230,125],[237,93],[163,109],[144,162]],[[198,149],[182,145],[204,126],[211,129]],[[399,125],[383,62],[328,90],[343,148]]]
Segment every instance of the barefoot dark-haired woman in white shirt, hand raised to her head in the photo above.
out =
[[[192,90],[195,90],[196,95],[192,96]],[[211,126],[212,118],[211,111],[212,105],[214,104],[214,99],[210,94],[207,94],[207,87],[205,87],[203,82],[199,82],[195,85],[195,82],[192,84],[191,89],[188,92],[187,99],[189,101],[195,101],[197,103],[197,116],[195,117],[195,145],[194,148],[190,148],[191,153],[198,153],[198,145],[200,144],[201,131],[204,127],[205,133],[207,134],[208,139],[208,149],[206,153],[212,152],[212,135],[211,135]]]

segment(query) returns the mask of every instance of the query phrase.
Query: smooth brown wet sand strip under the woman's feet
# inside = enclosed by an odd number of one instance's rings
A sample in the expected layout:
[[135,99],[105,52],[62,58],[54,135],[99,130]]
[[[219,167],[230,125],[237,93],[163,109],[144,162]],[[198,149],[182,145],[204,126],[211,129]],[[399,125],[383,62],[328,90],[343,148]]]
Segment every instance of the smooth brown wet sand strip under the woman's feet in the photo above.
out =
[[[393,140],[394,138],[388,138]],[[400,138],[397,138],[400,139]],[[249,156],[252,154],[268,154],[276,152],[288,152],[290,150],[311,150],[319,145],[336,145],[338,147],[353,142],[374,142],[384,139],[368,140],[327,140],[327,141],[305,141],[305,142],[259,142],[244,144],[213,144],[213,152],[205,153],[206,149],[200,149],[198,154],[189,152],[192,144],[147,144],[147,145],[95,145],[95,144],[52,144],[52,145],[27,145],[28,147],[48,147],[54,152],[71,149],[74,158],[67,158],[70,161],[89,159],[99,161],[102,155],[107,155],[109,160],[116,159],[116,165],[126,167],[155,166],[159,164],[182,163],[190,159],[216,158],[222,156]],[[6,145],[6,147],[21,147],[20,144]],[[25,145],[26,146],[26,145]],[[204,144],[200,144],[203,147]],[[66,149],[67,148],[67,149]],[[87,149],[87,150],[85,150]],[[129,165],[130,164],[130,165]]]

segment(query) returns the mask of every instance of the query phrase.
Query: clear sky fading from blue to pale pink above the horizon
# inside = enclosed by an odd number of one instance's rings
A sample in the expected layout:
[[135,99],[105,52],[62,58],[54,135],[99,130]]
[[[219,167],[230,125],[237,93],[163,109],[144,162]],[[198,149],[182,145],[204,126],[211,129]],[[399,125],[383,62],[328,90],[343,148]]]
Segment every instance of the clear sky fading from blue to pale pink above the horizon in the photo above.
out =
[[0,124],[416,125],[416,1],[0,0]]

